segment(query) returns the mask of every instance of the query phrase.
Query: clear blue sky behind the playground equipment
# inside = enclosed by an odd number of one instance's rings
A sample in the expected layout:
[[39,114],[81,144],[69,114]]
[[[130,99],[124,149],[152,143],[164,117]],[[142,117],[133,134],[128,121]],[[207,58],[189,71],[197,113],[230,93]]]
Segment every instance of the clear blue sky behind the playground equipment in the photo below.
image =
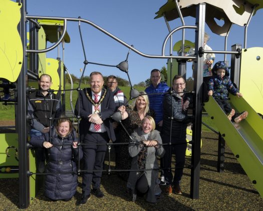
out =
[[[87,19],[104,28],[124,42],[134,45],[136,49],[151,55],[160,55],[163,41],[168,34],[167,26],[163,18],[154,19],[155,13],[163,6],[166,0],[133,0],[133,1],[106,1],[106,0],[28,0],[28,15],[32,16],[54,16]],[[62,5],[63,4],[63,5]],[[247,48],[262,47],[263,28],[260,23],[263,20],[263,10],[256,12],[252,17],[247,32]],[[186,25],[194,25],[195,19],[186,18]],[[181,26],[180,20],[169,22],[172,29]],[[128,48],[117,41],[109,38],[97,29],[81,24],[82,35],[85,44],[87,60],[90,62],[117,65],[126,59]],[[224,49],[224,37],[213,34],[206,26],[205,31],[210,35],[208,45],[213,50]],[[80,42],[78,22],[68,23],[68,33],[71,43],[65,45],[64,62],[68,70],[80,77],[80,68],[84,67],[84,55]],[[242,44],[243,46],[244,27],[233,25],[228,36],[227,50],[231,45]],[[185,38],[194,41],[193,30],[186,30]],[[174,43],[181,40],[181,31],[173,36]],[[167,48],[168,52],[168,48]],[[176,55],[176,52],[173,52]],[[57,50],[47,53],[48,57],[56,58]],[[223,55],[216,55],[216,61],[223,60]],[[227,56],[230,61],[230,56]],[[166,66],[167,59],[149,59],[130,53],[129,75],[132,84],[145,81],[149,78],[150,71],[154,68],[160,69]],[[188,65],[191,66],[191,63]],[[187,76],[191,76],[191,69],[187,68]],[[127,75],[115,67],[104,67],[88,64],[85,75],[91,71],[100,71],[103,75],[118,75],[125,79]]]

